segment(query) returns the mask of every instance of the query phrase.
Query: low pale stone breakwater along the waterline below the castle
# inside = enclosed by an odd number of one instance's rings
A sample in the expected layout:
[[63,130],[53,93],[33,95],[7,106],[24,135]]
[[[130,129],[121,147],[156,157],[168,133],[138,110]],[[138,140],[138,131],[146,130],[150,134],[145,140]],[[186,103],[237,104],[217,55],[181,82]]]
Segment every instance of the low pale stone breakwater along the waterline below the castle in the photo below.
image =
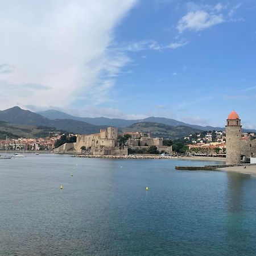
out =
[[76,155],[77,158],[108,158],[108,159],[174,159],[177,156],[160,155]]

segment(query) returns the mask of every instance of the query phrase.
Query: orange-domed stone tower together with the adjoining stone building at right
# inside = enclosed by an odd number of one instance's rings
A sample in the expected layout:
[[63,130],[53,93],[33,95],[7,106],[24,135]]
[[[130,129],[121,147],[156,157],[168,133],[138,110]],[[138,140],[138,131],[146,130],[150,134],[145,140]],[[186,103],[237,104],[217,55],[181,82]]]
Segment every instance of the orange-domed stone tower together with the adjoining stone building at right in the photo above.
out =
[[226,164],[240,164],[243,156],[256,158],[256,139],[242,140],[241,119],[233,111],[226,119]]

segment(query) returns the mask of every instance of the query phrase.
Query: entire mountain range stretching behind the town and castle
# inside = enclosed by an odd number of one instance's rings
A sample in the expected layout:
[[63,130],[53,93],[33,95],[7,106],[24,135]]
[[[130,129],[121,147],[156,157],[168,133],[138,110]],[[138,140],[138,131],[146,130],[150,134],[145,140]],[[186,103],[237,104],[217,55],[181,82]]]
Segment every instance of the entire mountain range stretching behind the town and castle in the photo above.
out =
[[[14,126],[9,128],[9,132],[13,132],[13,137],[19,135],[19,133],[22,133],[24,130],[23,126],[30,126],[30,129],[33,129],[34,127],[37,133],[31,134],[47,134],[47,130],[67,131],[69,133],[75,134],[92,134],[98,133],[100,129],[106,129],[108,126],[115,126],[119,128],[120,132],[150,131],[153,137],[163,137],[170,139],[182,138],[186,135],[197,133],[202,130],[209,131],[225,129],[223,127],[190,125],[175,119],[168,119],[163,117],[148,117],[144,119],[126,120],[105,117],[75,117],[73,115],[59,112],[57,110],[47,110],[46,112],[34,113],[30,110],[21,109],[18,106],[0,111],[0,121],[5,121],[16,125],[15,129]],[[39,129],[39,126],[41,130]],[[0,130],[2,129],[2,133],[5,132],[6,127],[6,124],[4,125],[4,123],[1,124],[0,122]],[[20,131],[18,131],[19,128]],[[15,130],[16,133],[14,133]]]

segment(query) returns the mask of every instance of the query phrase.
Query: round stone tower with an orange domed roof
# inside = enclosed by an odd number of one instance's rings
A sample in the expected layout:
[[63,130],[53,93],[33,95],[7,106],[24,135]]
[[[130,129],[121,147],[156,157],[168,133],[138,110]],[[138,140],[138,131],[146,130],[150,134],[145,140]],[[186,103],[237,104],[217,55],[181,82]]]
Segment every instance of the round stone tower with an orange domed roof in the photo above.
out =
[[226,119],[226,164],[241,163],[241,137],[241,119],[233,111]]

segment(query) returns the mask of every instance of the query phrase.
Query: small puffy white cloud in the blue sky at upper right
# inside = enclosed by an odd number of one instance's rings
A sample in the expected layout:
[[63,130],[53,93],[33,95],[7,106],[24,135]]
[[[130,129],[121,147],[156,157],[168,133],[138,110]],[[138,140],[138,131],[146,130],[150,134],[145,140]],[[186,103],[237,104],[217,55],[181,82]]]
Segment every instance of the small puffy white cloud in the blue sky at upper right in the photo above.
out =
[[207,11],[191,11],[183,16],[177,25],[177,30],[182,33],[184,30],[200,31],[225,22],[222,14],[208,13]]

